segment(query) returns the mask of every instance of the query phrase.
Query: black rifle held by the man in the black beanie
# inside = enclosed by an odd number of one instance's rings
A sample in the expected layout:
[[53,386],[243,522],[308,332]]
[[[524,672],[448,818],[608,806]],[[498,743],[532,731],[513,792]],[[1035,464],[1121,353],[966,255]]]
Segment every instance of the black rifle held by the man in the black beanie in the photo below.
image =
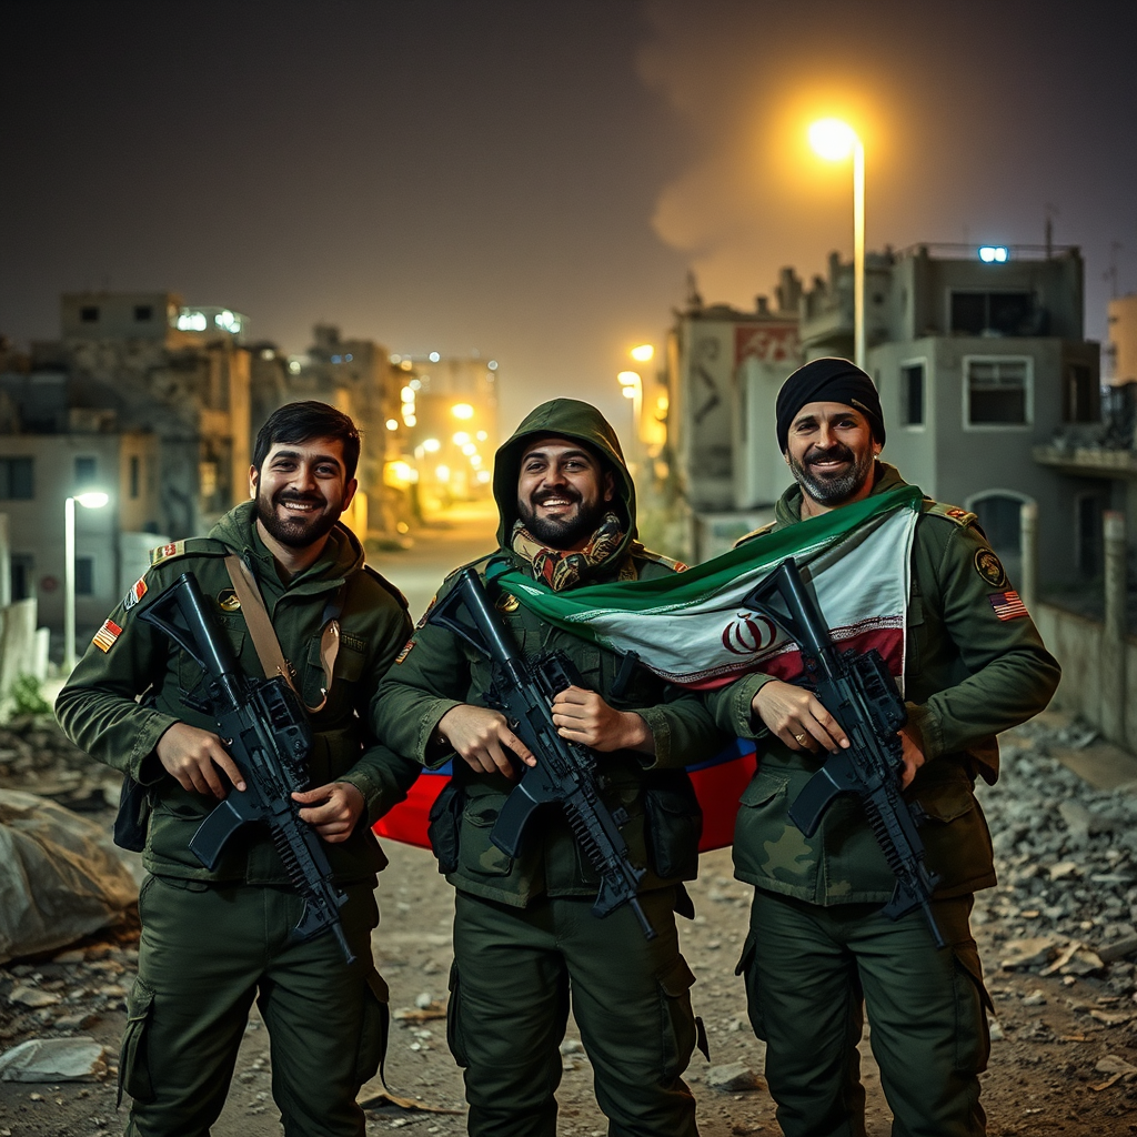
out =
[[[774,595],[781,597],[788,615],[770,605]],[[921,908],[936,946],[944,947],[931,911],[931,894],[939,877],[928,868],[916,831],[927,813],[901,796],[903,744],[897,731],[908,714],[880,653],[875,648],[863,654],[855,648],[844,653],[837,648],[794,557],[787,557],[747,594],[742,604],[769,615],[797,641],[810,686],[849,739],[848,749],[831,754],[806,782],[789,807],[790,821],[812,837],[833,798],[856,794],[896,877],[893,896],[882,910],[885,915],[898,920]]]

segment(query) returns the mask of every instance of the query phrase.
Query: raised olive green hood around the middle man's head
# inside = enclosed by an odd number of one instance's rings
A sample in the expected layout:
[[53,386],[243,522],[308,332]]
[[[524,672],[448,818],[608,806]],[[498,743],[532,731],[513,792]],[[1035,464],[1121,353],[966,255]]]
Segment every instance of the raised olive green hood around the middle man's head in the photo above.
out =
[[636,539],[636,487],[624,465],[620,439],[608,421],[590,402],[580,399],[549,399],[531,410],[521,421],[513,435],[503,442],[493,459],[493,499],[500,522],[498,545],[506,549],[517,520],[517,478],[521,474],[521,454],[534,438],[558,434],[576,442],[587,442],[598,450],[615,474],[616,497],[613,506],[628,532],[619,553]]

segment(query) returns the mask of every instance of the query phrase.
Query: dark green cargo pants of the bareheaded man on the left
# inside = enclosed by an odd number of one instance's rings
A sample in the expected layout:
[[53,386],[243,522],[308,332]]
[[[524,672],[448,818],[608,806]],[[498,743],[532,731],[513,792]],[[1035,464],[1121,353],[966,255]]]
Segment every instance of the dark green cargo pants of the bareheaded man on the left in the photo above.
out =
[[205,1137],[225,1104],[254,998],[268,1029],[273,1099],[288,1137],[363,1137],[359,1087],[387,1045],[387,985],[371,954],[368,883],[335,937],[289,943],[302,899],[283,888],[148,877],[139,974],[127,999],[119,1087],[128,1137]]

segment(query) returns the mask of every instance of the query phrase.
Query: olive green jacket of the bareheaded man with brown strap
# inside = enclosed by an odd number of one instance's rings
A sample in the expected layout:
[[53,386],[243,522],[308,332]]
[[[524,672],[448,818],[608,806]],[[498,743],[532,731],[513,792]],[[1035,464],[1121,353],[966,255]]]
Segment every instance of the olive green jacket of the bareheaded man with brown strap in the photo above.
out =
[[[308,706],[316,706],[325,684],[319,662],[319,636],[330,619],[325,608],[330,601],[338,604],[340,649],[327,703],[310,715],[314,745],[308,765],[312,786],[347,781],[364,795],[366,820],[360,819],[347,841],[325,845],[325,852],[339,880],[365,880],[387,863],[367,822],[400,802],[418,773],[416,765],[375,744],[366,717],[380,678],[409,633],[406,604],[364,565],[362,546],[342,525],[332,530],[313,565],[282,582],[254,521],[254,503],[246,501],[222,517],[208,537],[155,549],[151,567],[110,614],[60,691],[56,714],[77,746],[148,787],[151,813],[143,864],[150,872],[284,883],[287,873],[263,827],[246,825],[235,833],[211,872],[190,852],[190,838],[216,802],[182,789],[163,769],[155,747],[175,722],[209,731],[216,724],[202,700],[197,664],[139,615],[183,572],[192,572],[244,673],[263,677],[225,567],[225,556],[239,554],[257,578],[281,649],[296,671],[297,690]],[[114,628],[121,631],[116,634]]]

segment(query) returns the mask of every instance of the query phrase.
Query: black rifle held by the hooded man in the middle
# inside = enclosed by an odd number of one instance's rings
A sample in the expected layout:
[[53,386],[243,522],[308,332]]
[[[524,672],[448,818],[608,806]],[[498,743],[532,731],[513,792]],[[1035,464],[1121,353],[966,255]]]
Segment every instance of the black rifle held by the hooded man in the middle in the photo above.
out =
[[[458,620],[455,609],[463,606],[474,626]],[[481,578],[473,568],[458,573],[454,589],[430,614],[430,622],[446,628],[470,644],[490,663],[493,686],[488,702],[500,711],[509,728],[537,758],[525,766],[521,781],[505,799],[490,840],[506,856],[516,856],[530,818],[540,805],[559,803],[576,844],[600,874],[600,888],[592,913],[606,916],[628,904],[648,939],[655,929],[637,899],[644,870],[628,857],[628,845],[620,832],[628,813],[609,811],[600,798],[596,779],[596,757],[587,746],[570,742],[557,733],[551,706],[565,688],[580,686],[580,677],[563,652],[549,652],[534,661],[526,659],[512,641],[485,595]]]

